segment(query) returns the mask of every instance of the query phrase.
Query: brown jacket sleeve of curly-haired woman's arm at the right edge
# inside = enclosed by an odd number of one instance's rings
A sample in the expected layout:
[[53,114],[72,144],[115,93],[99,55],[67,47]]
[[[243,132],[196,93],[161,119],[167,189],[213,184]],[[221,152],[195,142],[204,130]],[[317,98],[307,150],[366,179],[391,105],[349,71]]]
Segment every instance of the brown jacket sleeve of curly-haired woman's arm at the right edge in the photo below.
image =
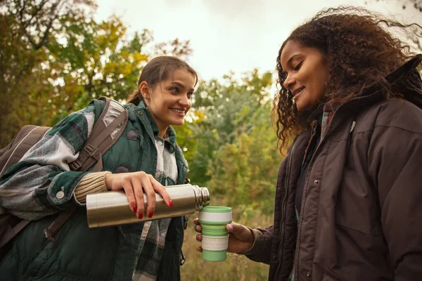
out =
[[395,281],[422,276],[422,121],[418,119],[407,129],[375,126],[369,144],[369,177],[378,190]]

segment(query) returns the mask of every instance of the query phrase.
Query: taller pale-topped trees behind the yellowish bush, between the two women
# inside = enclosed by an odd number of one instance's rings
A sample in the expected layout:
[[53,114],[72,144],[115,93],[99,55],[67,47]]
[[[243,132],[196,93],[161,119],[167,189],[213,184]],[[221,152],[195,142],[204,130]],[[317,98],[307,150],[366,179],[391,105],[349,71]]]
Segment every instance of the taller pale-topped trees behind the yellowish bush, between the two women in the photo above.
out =
[[260,114],[269,122],[271,83],[271,73],[260,75],[255,70],[241,81],[229,74],[222,83],[211,80],[198,86],[188,118],[193,121],[184,125],[189,133],[183,140],[178,138],[192,167],[188,176],[193,183],[207,185],[212,178],[210,165],[218,163],[215,153],[236,142],[241,133],[251,133]]

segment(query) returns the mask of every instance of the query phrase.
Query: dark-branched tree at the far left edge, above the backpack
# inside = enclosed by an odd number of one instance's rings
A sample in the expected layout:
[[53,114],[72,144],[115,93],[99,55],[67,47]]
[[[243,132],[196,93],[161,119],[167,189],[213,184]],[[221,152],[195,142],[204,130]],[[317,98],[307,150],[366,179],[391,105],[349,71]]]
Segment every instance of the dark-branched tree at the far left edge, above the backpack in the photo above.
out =
[[0,2],[1,145],[23,124],[45,117],[38,107],[49,100],[52,88],[46,46],[61,18],[91,8],[89,0]]

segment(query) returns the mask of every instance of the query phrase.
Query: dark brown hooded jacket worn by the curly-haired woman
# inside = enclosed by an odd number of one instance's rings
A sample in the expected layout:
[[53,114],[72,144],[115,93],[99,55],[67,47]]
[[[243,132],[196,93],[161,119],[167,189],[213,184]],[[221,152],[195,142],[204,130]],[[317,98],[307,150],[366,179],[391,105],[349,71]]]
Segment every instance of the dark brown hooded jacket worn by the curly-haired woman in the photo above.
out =
[[335,112],[309,164],[295,220],[295,186],[309,132],[281,163],[274,226],[254,230],[247,256],[269,280],[422,280],[422,82],[418,55]]

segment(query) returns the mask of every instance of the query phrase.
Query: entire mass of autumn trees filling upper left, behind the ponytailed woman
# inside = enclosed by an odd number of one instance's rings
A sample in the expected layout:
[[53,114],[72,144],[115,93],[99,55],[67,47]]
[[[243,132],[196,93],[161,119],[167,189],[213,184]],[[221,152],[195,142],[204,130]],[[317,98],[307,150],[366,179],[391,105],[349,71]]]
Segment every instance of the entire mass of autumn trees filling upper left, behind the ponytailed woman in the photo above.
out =
[[125,100],[151,54],[186,56],[188,41],[153,44],[119,18],[96,22],[92,0],[0,2],[0,145],[25,124],[52,126],[89,103]]

